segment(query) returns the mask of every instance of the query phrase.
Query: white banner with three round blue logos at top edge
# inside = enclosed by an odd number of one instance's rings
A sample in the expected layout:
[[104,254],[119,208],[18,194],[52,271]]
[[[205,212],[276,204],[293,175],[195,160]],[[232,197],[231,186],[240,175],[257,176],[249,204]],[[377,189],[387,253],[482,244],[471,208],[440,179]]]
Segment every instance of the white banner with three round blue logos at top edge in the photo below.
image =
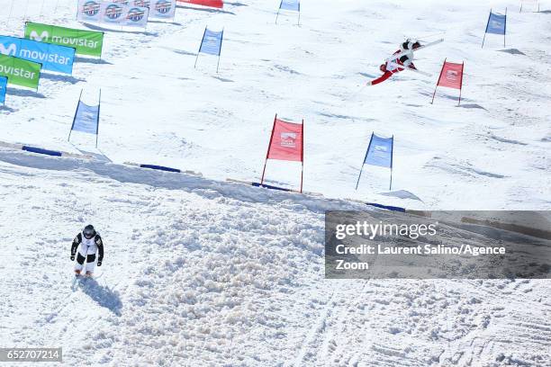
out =
[[145,28],[149,8],[122,1],[78,0],[77,21]]

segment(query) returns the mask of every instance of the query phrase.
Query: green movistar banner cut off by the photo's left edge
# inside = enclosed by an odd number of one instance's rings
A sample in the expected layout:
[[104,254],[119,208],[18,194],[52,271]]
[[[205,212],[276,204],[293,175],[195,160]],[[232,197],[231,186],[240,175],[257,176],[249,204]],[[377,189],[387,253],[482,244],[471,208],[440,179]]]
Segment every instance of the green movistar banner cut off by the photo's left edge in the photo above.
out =
[[6,76],[12,85],[38,89],[41,78],[41,64],[23,58],[0,55],[0,76]]

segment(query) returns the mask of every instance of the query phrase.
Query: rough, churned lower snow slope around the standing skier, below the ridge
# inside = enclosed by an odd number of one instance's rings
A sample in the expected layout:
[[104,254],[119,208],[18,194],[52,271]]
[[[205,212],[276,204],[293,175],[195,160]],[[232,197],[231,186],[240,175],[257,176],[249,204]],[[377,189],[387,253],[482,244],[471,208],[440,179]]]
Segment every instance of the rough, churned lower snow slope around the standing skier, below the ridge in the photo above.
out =
[[[0,161],[2,345],[63,346],[68,365],[548,362],[548,282],[324,280],[324,210],[363,206],[5,150]],[[68,245],[90,220],[104,265],[74,282]]]

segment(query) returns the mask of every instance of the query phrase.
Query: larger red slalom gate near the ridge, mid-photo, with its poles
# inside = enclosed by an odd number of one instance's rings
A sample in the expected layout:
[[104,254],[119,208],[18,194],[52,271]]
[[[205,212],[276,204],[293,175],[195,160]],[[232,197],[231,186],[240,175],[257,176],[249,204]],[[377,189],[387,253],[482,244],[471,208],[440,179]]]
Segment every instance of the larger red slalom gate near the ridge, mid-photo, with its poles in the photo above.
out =
[[304,120],[302,123],[294,123],[274,118],[274,127],[270,143],[266,152],[264,169],[260,184],[264,184],[264,175],[266,174],[266,164],[268,159],[285,160],[301,162],[301,192],[303,192],[304,175]]

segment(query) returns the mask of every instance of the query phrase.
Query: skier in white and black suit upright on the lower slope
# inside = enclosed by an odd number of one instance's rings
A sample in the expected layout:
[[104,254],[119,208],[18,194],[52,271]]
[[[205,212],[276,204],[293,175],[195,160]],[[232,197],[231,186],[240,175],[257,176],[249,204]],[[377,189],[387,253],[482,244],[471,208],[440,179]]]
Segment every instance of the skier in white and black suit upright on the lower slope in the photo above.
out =
[[95,267],[95,253],[98,252],[97,266],[102,266],[104,260],[104,243],[99,233],[95,231],[94,226],[88,224],[82,232],[77,234],[73,239],[71,246],[71,261],[75,260],[77,254],[77,264],[75,264],[75,275],[79,276],[86,260],[86,276],[92,276]]

